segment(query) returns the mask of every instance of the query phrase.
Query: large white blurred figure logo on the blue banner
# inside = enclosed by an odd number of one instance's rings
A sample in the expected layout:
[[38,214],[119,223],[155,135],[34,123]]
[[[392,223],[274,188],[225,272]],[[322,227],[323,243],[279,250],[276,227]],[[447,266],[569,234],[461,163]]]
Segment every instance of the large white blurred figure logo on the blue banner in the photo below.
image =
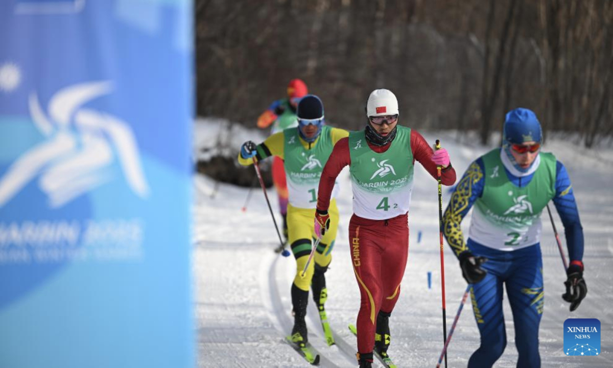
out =
[[146,197],[149,187],[129,125],[105,112],[83,108],[88,101],[109,94],[110,82],[89,82],[59,90],[49,101],[48,115],[36,93],[29,110],[36,128],[47,137],[23,153],[0,178],[0,206],[39,176],[40,190],[50,207],[61,207],[75,197],[112,180],[106,170],[115,154],[129,187]]

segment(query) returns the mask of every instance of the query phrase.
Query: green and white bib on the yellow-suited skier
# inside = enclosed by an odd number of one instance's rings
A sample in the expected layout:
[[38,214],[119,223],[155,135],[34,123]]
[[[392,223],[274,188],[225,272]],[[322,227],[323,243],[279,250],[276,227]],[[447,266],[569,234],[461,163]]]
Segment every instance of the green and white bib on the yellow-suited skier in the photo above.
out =
[[[333,148],[330,131],[332,128],[329,126],[322,126],[321,134],[310,150],[307,150],[300,142],[298,128],[283,131],[287,190],[289,191],[289,203],[294,207],[314,209],[317,205],[319,178],[321,178],[321,172]],[[338,182],[335,182],[332,197],[337,195],[338,190]]]

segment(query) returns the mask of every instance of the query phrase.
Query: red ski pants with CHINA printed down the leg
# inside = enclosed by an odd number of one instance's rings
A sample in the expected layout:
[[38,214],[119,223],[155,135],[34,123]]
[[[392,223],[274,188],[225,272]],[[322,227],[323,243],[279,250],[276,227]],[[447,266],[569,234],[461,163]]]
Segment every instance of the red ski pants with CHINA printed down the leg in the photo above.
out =
[[375,346],[379,310],[392,312],[400,294],[409,255],[408,217],[368,220],[356,215],[349,221],[351,261],[360,288],[357,314],[357,350],[371,353]]

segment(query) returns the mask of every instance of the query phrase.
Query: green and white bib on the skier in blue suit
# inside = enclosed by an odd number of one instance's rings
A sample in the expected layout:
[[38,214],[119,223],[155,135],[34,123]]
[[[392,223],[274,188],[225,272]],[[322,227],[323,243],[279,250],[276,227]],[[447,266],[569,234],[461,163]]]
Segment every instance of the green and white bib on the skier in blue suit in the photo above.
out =
[[555,157],[539,153],[540,163],[530,183],[519,188],[504,171],[496,148],[482,156],[485,185],[473,207],[469,236],[486,247],[512,251],[541,239],[541,212],[555,196]]

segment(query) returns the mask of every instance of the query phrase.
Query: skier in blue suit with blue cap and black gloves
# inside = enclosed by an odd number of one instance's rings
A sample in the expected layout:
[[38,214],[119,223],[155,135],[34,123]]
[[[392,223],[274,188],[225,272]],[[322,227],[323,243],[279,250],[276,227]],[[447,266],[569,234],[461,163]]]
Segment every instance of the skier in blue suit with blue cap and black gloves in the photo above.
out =
[[[543,315],[541,212],[550,200],[564,224],[571,263],[566,293],[571,312],[587,294],[582,262],[584,238],[573,188],[566,169],[541,151],[543,134],[534,112],[506,114],[503,145],[474,161],[451,196],[443,232],[472,284],[473,312],[481,346],[468,367],[492,367],[506,347],[503,284],[511,304],[517,367],[540,367],[538,329]],[[468,241],[460,223],[474,205]],[[485,262],[487,261],[487,262]]]

